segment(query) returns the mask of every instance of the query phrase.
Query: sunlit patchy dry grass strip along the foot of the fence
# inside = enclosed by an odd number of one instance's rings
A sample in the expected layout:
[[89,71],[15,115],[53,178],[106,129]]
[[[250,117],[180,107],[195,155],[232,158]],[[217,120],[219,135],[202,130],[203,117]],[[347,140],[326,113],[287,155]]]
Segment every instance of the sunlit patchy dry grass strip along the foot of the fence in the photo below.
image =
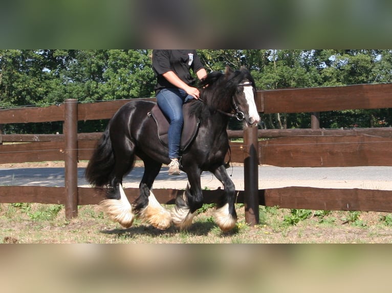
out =
[[251,227],[237,204],[237,224],[224,233],[213,209],[203,205],[187,231],[161,231],[139,219],[124,229],[96,205],[79,206],[78,217],[67,221],[62,205],[0,204],[0,243],[392,243],[389,213],[260,206],[259,224]]

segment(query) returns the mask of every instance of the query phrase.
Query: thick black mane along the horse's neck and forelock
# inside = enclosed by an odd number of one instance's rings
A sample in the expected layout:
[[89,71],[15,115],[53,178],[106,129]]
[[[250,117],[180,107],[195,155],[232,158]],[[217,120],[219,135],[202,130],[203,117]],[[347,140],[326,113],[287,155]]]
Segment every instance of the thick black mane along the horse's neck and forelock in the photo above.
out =
[[221,109],[228,111],[231,107],[231,97],[237,85],[242,80],[248,79],[253,87],[254,80],[245,67],[239,70],[226,68],[226,72],[213,71],[199,82],[200,100],[193,103],[189,108],[190,115],[195,115],[203,119],[203,115]]

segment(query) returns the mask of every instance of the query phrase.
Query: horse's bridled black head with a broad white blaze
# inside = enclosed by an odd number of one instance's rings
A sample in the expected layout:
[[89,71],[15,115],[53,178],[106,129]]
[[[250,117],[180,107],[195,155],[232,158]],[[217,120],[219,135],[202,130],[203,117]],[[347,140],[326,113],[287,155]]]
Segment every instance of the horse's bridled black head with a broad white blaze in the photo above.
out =
[[247,126],[257,124],[260,116],[254,102],[256,87],[249,71],[245,67],[234,71],[227,66],[225,76],[232,85],[229,88],[233,91],[232,107],[237,119],[245,119]]

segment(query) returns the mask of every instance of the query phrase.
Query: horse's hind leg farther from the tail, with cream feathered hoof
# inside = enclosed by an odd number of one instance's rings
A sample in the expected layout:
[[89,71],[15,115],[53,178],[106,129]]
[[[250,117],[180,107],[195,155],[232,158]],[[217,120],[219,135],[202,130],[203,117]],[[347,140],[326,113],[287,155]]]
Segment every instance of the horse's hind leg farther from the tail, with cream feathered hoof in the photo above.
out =
[[143,221],[155,228],[165,230],[171,225],[171,214],[155,198],[151,191],[155,178],[158,176],[162,164],[144,160],[144,175],[140,182],[140,196],[133,203],[134,211]]

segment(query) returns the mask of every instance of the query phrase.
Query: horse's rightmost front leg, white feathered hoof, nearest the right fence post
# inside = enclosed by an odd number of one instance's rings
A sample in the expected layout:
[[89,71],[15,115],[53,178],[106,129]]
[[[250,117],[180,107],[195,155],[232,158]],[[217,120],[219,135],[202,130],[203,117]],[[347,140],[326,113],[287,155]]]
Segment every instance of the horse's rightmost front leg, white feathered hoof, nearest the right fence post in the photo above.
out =
[[215,177],[223,183],[224,193],[216,205],[215,223],[222,231],[227,232],[235,227],[237,222],[237,213],[235,212],[235,186],[233,181],[227,175],[224,165],[219,166],[212,172]]

